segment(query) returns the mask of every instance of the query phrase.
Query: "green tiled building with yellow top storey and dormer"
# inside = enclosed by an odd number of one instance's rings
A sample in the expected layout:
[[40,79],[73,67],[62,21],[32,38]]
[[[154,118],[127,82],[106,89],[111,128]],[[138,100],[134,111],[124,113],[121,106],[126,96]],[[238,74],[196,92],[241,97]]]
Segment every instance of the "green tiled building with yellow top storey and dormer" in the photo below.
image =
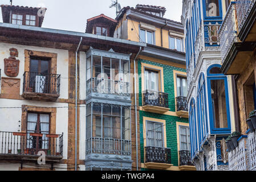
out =
[[140,131],[139,169],[193,170],[190,156],[184,29],[165,7],[124,7],[114,37],[147,43],[134,61],[133,105]]

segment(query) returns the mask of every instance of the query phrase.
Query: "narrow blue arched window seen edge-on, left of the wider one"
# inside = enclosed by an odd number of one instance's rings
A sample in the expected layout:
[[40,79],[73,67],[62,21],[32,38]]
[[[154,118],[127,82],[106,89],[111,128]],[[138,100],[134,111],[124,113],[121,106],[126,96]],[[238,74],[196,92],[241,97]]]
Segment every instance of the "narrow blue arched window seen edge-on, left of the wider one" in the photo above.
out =
[[198,137],[199,142],[204,141],[208,134],[207,110],[206,110],[206,90],[205,90],[205,76],[201,73],[198,81],[197,94],[197,114],[198,114]]

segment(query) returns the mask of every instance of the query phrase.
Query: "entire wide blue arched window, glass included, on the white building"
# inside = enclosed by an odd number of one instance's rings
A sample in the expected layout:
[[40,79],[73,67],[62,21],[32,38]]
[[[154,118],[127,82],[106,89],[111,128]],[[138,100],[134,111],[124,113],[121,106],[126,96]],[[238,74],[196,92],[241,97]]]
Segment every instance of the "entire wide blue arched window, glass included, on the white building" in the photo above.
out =
[[208,68],[208,94],[210,128],[213,134],[230,133],[229,90],[227,77],[220,71],[221,65]]

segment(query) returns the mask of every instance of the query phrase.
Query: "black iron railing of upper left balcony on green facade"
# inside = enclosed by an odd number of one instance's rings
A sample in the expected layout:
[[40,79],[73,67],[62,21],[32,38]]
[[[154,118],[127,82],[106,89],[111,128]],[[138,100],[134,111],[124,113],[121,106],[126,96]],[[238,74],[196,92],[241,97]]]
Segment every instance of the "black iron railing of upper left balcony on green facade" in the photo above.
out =
[[169,107],[168,93],[146,90],[143,94],[143,103],[145,105]]

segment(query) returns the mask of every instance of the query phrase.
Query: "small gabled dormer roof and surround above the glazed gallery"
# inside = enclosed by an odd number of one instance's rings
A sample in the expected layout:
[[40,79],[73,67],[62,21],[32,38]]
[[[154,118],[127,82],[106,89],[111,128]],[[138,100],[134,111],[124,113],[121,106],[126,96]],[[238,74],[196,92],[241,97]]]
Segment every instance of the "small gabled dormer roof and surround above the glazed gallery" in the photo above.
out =
[[104,24],[104,26],[109,27],[109,36],[113,37],[117,25],[117,20],[109,18],[104,14],[100,14],[99,16],[87,19],[86,33],[92,34],[92,29],[94,28],[95,24]]

